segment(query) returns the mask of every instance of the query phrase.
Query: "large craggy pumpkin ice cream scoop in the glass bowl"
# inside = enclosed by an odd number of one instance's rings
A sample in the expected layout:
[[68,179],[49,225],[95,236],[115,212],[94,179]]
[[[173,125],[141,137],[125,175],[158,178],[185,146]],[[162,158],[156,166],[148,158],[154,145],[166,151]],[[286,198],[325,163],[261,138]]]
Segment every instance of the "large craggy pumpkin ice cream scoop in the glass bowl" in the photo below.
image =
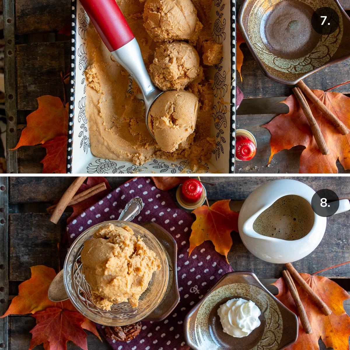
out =
[[91,287],[92,302],[110,310],[113,303],[139,304],[154,271],[161,268],[155,252],[129,226],[101,226],[81,252],[83,274]]

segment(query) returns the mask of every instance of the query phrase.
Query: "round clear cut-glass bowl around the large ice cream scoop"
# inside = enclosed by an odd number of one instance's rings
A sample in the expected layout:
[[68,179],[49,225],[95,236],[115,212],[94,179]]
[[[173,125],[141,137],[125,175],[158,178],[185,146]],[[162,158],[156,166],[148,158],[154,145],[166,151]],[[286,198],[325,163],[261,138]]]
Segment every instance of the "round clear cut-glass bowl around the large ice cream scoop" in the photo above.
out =
[[[161,269],[155,271],[149,282],[148,288],[140,296],[138,307],[132,308],[128,302],[113,304],[110,311],[98,308],[91,301],[89,283],[82,273],[80,252],[84,242],[91,239],[94,232],[102,225],[114,224],[116,226],[128,225],[134,231],[135,236],[140,236],[145,244],[158,256]],[[121,326],[138,322],[156,309],[162,301],[169,279],[169,264],[164,247],[151,232],[142,226],[126,221],[106,221],[84,231],[72,244],[64,261],[63,280],[70,301],[80,313],[91,321],[109,326]]]

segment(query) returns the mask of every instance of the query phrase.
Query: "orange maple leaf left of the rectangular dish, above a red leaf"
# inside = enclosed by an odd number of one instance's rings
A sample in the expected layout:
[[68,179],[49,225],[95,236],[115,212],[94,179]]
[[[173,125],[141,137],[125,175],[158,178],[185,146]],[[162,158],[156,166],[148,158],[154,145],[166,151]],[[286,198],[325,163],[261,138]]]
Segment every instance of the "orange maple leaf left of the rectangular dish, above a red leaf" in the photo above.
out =
[[45,95],[37,98],[38,109],[27,117],[27,126],[15,148],[35,146],[66,136],[68,129],[68,103],[64,106],[59,97]]

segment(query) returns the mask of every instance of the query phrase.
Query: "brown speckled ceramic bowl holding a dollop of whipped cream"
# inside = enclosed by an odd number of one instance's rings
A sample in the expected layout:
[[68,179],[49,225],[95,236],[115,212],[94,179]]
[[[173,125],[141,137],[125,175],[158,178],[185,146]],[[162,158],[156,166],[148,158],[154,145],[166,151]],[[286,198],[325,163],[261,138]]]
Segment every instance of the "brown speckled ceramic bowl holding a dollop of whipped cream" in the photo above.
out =
[[[217,314],[219,306],[233,298],[252,300],[260,309],[260,326],[243,338],[226,334]],[[280,350],[294,343],[298,320],[252,272],[229,272],[187,314],[187,344],[195,350]]]

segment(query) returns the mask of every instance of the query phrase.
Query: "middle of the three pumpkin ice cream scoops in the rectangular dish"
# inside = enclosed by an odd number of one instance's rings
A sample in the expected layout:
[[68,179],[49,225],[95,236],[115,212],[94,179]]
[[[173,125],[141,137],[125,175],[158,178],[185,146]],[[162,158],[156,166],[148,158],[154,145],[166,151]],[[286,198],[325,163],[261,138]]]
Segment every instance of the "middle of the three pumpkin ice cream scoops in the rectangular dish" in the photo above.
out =
[[156,49],[149,71],[161,90],[183,90],[200,72],[199,56],[186,42],[164,44]]

